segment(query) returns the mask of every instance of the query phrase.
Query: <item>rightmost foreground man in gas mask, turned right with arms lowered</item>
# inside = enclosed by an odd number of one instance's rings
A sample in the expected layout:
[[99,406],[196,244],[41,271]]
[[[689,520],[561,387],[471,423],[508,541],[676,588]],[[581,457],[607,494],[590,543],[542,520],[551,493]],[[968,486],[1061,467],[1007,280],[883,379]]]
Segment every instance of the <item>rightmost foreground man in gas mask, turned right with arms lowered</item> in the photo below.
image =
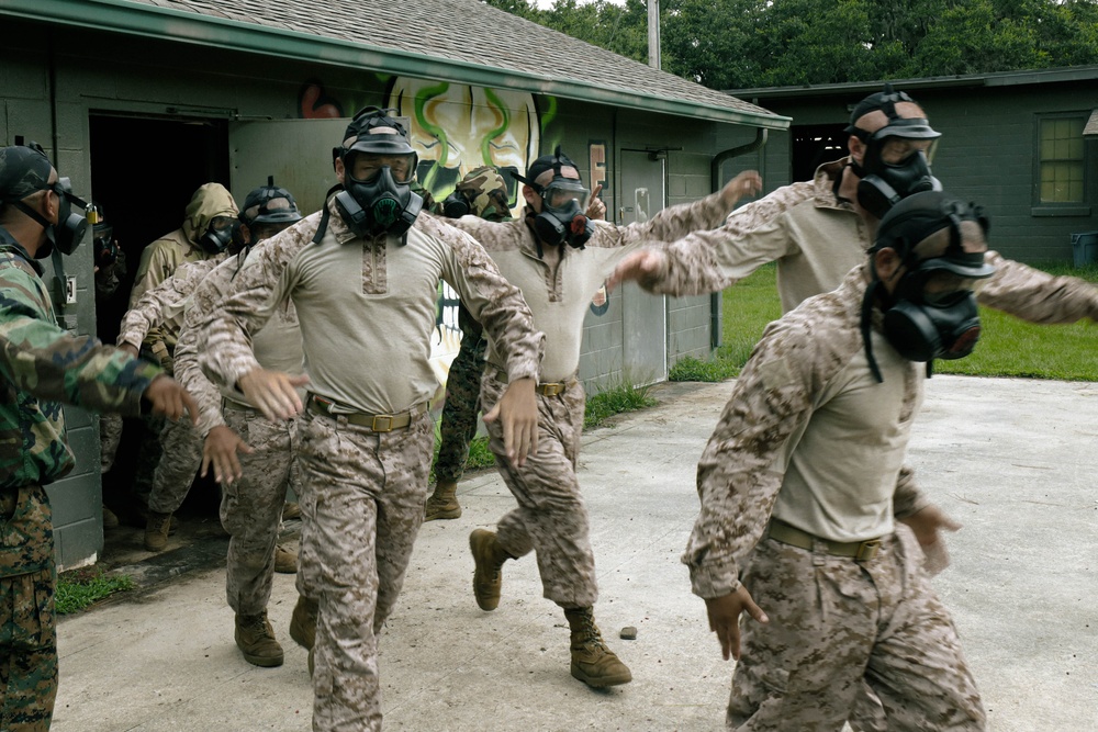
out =
[[[866,685],[873,729],[984,729],[919,542],[894,515],[927,505],[901,471],[918,362],[976,345],[986,233],[978,207],[942,192],[903,200],[869,260],[771,324],[740,373],[698,463],[683,556],[738,661],[729,729],[839,730]],[[741,629],[744,610],[757,622]]]

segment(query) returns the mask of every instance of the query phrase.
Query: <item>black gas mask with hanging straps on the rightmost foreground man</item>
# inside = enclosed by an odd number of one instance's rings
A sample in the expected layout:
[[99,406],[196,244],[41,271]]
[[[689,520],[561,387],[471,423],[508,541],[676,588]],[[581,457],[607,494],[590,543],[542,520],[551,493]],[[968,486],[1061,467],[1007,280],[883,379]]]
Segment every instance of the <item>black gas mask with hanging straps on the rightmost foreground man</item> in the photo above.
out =
[[[988,222],[978,206],[963,203],[940,191],[914,194],[894,206],[881,222],[871,252],[892,248],[903,257],[905,269],[890,295],[873,269],[862,312],[862,333],[870,368],[881,381],[869,340],[870,311],[874,299],[884,308],[884,336],[909,361],[962,359],[979,339],[979,313],[973,288],[976,280],[991,277],[995,268],[984,262],[984,252],[968,252],[962,246],[962,222],[975,222],[984,237]],[[949,246],[938,257],[920,259],[920,243],[948,229]],[[940,246],[940,245],[939,245]]]

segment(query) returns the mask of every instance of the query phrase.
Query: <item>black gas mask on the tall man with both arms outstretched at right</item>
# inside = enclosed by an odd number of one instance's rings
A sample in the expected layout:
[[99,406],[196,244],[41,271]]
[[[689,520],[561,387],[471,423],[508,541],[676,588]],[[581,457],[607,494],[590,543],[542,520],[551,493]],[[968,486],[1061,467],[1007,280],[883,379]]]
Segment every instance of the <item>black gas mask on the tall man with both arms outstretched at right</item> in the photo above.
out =
[[[911,150],[903,159],[885,161],[885,148],[892,140],[918,143],[941,137],[941,133],[931,127],[927,120],[899,116],[896,113],[896,102],[915,103],[906,93],[893,91],[892,85],[885,85],[883,92],[863,100],[854,110],[851,124],[847,127],[848,133],[865,144],[861,165],[853,161],[850,164],[861,179],[858,182],[858,203],[877,218],[883,218],[889,209],[912,193],[942,190],[941,182],[930,173],[928,153]],[[856,120],[872,111],[884,112],[888,116],[887,124],[873,133],[856,127]]]

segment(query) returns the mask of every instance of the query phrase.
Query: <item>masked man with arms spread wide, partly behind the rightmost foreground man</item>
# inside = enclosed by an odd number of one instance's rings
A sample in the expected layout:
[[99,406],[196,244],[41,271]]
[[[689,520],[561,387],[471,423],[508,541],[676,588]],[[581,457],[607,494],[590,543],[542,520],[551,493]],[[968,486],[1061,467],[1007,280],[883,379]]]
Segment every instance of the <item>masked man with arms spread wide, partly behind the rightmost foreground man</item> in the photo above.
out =
[[[908,94],[890,85],[850,115],[850,155],[828,162],[815,180],[781,188],[735,211],[725,226],[696,232],[661,250],[624,260],[612,283],[637,280],[676,295],[717,292],[777,261],[783,312],[829,292],[862,261],[881,216],[903,196],[941,189],[927,153],[940,133]],[[1098,291],[1076,278],[1054,278],[994,251],[996,273],[979,283],[982,305],[1041,324],[1098,316]]]

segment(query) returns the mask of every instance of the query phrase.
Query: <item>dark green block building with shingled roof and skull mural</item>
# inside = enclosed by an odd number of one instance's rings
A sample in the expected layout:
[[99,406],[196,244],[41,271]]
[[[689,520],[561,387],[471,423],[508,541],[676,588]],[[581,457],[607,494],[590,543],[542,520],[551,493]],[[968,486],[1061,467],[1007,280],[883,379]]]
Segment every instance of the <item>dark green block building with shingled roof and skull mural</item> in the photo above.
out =
[[[104,207],[131,277],[202,183],[240,201],[274,176],[318,209],[345,117],[366,105],[408,119],[436,198],[471,168],[525,172],[559,144],[616,223],[709,193],[747,168],[720,161],[789,124],[477,0],[5,0],[0,20],[0,139],[40,142]],[[97,313],[90,247],[66,268],[63,322],[111,340],[128,283]],[[662,380],[708,353],[715,312],[625,288],[589,316],[581,376]],[[61,567],[102,547],[97,420],[70,410],[69,426],[79,468],[49,489]]]

